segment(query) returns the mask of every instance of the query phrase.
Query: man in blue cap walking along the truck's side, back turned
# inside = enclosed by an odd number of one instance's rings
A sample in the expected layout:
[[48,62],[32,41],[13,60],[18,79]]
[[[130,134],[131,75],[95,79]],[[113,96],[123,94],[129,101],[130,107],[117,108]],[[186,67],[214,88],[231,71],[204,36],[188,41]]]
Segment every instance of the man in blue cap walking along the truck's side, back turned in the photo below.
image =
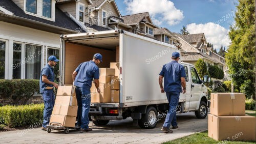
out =
[[[161,93],[166,92],[166,97],[169,102],[169,110],[166,115],[162,131],[166,133],[172,133],[170,130],[170,124],[172,124],[173,129],[178,128],[176,122],[176,109],[179,103],[180,93],[186,93],[186,73],[184,67],[178,63],[180,60],[180,53],[173,52],[173,61],[165,64],[162,71],[159,74],[159,85]],[[163,77],[164,77],[164,88],[163,88]],[[181,85],[183,90],[181,91]]]

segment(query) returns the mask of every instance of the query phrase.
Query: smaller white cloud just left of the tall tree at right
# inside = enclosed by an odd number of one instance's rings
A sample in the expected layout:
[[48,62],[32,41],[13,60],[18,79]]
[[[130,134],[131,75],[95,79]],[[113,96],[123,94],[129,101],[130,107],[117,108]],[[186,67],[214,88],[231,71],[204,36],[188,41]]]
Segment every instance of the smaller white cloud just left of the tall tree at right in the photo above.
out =
[[187,25],[189,34],[204,33],[206,41],[212,43],[214,48],[220,49],[221,45],[229,46],[228,30],[219,24],[208,22],[205,24],[190,23]]

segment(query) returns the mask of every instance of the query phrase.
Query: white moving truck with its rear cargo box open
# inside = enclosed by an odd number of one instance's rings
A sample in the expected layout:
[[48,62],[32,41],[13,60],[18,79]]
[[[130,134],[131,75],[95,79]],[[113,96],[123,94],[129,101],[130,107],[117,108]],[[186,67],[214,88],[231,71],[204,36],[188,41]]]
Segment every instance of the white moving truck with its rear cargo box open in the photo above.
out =
[[[141,128],[155,128],[159,113],[168,110],[166,95],[158,83],[162,66],[171,60],[174,45],[122,30],[61,35],[60,84],[72,84],[72,72],[82,62],[92,60],[94,53],[103,55],[100,68],[120,63],[118,103],[91,103],[90,116],[96,125],[110,120],[132,117]],[[196,117],[207,116],[207,88],[195,67],[181,63],[186,71],[186,93],[180,94],[177,113],[195,111]]]

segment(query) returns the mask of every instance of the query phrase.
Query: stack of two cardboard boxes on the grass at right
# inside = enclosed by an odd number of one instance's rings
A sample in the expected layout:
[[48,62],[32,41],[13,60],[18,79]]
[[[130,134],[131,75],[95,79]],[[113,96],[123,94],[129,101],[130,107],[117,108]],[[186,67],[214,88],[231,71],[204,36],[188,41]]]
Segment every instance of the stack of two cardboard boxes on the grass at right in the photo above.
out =
[[245,95],[211,93],[208,136],[216,140],[256,140],[256,118],[245,116]]

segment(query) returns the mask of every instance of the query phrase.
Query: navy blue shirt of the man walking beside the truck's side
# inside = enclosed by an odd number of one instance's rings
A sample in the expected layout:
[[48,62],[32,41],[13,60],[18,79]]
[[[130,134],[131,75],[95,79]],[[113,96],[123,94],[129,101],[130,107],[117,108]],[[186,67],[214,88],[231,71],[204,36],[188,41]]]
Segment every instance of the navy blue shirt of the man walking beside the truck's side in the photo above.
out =
[[184,67],[177,61],[172,61],[163,65],[160,72],[164,76],[164,91],[165,92],[179,92],[181,93],[181,77],[186,77]]

